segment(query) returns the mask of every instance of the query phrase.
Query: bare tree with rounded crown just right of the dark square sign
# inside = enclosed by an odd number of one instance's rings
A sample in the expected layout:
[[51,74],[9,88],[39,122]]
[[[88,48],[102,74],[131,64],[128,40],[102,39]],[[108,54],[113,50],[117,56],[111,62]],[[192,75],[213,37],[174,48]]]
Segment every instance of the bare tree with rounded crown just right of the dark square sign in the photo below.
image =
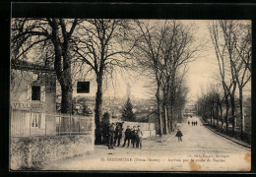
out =
[[[84,62],[96,76],[96,143],[101,143],[102,82],[107,75],[112,76],[116,67],[128,68],[129,53],[126,41],[126,20],[90,19],[78,27],[74,52],[79,61]],[[122,43],[122,44],[121,44]]]

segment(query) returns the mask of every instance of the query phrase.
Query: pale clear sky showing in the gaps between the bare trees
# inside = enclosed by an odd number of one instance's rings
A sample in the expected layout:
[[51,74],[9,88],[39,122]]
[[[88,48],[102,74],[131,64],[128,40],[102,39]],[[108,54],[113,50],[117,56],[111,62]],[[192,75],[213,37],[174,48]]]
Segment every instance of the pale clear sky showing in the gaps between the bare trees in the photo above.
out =
[[[187,95],[189,102],[197,100],[197,96],[201,95],[201,89],[206,90],[211,84],[216,83],[214,75],[218,72],[218,63],[216,59],[215,49],[211,41],[211,37],[207,28],[210,21],[206,20],[186,20],[184,24],[195,25],[195,36],[198,42],[204,42],[203,50],[198,54],[198,57],[188,64],[188,73],[186,75],[186,85],[189,88]],[[133,78],[136,79],[133,79]],[[149,98],[151,87],[149,87],[149,79],[136,76],[136,74],[117,75],[115,80],[115,89],[108,86],[108,89],[103,89],[103,95],[107,96],[125,96],[127,84],[131,86],[131,95],[138,98]],[[79,95],[74,92],[74,95]],[[92,83],[91,92],[80,95],[96,95],[96,83]]]

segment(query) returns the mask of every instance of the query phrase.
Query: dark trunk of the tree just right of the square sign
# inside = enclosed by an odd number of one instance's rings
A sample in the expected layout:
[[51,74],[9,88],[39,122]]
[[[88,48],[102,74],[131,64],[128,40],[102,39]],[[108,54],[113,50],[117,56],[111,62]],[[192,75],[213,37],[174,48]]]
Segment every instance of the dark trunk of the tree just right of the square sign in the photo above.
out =
[[96,123],[96,144],[101,144],[101,117],[102,117],[102,80],[103,71],[96,75],[96,109],[95,109],[95,123]]

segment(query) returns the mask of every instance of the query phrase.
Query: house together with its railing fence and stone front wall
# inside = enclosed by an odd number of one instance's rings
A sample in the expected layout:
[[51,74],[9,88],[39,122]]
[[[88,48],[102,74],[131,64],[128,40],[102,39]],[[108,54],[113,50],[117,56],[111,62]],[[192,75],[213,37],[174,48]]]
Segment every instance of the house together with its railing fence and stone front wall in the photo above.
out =
[[94,150],[94,115],[56,113],[53,69],[12,61],[10,169],[37,169]]

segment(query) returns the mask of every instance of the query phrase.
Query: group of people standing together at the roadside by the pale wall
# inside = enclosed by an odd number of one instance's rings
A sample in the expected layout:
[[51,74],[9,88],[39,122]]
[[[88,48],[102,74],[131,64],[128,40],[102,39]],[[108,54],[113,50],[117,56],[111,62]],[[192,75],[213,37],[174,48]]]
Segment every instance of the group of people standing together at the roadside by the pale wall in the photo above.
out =
[[[123,134],[123,123],[114,123],[108,124],[106,137],[107,137],[107,147],[113,148],[114,146],[120,147],[121,139]],[[130,126],[127,126],[125,133],[124,133],[124,143],[123,148],[127,142],[127,148],[129,148],[130,143],[132,144],[133,148],[142,148],[142,137],[143,132],[140,126],[133,126],[131,129]]]

